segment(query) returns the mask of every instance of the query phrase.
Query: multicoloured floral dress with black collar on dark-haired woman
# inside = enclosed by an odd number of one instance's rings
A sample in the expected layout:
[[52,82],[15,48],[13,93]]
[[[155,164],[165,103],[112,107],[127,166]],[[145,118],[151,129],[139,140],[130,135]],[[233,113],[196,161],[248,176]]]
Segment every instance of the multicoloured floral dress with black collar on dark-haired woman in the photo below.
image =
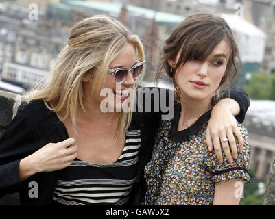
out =
[[219,164],[215,151],[206,146],[206,128],[211,110],[189,128],[177,131],[180,105],[175,117],[163,120],[156,135],[152,159],[145,166],[147,192],[144,205],[212,205],[215,183],[242,178],[250,181],[250,147],[245,127],[237,123],[243,136],[243,150],[233,164]]

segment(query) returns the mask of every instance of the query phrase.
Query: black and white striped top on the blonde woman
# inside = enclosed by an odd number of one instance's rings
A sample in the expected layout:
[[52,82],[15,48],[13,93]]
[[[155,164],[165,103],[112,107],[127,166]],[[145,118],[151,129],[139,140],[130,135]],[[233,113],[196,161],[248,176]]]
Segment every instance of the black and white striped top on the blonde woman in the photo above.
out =
[[126,131],[123,152],[111,164],[92,164],[75,159],[64,168],[53,203],[63,205],[123,205],[128,202],[136,181],[141,131]]

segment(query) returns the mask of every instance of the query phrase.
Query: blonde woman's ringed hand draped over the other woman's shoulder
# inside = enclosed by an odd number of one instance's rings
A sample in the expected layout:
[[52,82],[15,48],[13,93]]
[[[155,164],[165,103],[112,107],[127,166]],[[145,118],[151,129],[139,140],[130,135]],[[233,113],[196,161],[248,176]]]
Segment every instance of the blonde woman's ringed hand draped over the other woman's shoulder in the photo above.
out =
[[[235,117],[233,116],[233,114],[239,113],[239,105],[236,101],[233,101],[234,100],[232,99],[222,99],[215,105],[215,107],[213,107],[211,118],[206,129],[206,144],[209,151],[212,151],[214,148],[219,163],[223,162],[222,149],[224,150],[226,159],[231,164],[233,162],[232,157],[234,159],[237,158],[235,136],[239,141],[239,146],[242,148],[243,145],[241,132],[239,131]],[[221,143],[221,140],[224,138],[228,138],[228,142]],[[230,144],[230,147],[228,143]]]

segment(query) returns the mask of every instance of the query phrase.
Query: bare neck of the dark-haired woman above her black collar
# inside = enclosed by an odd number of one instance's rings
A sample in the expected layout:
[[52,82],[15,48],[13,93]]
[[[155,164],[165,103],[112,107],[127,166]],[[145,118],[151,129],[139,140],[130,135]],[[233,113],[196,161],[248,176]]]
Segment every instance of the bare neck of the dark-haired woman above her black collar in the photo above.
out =
[[197,100],[181,96],[180,99],[182,111],[178,120],[178,131],[191,127],[200,116],[211,109],[211,97]]

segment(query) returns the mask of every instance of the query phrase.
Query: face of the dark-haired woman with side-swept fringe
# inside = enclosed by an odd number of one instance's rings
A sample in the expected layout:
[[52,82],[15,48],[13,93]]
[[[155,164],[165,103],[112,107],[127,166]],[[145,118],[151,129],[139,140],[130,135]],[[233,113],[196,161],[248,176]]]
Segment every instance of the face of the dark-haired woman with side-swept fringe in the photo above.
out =
[[[178,53],[176,60],[178,60],[179,55],[180,53]],[[225,74],[229,57],[228,42],[222,40],[206,57],[206,60],[187,60],[184,65],[176,70],[175,75],[181,97],[202,100],[213,96]],[[168,62],[172,67],[176,66],[172,60],[168,60]]]

